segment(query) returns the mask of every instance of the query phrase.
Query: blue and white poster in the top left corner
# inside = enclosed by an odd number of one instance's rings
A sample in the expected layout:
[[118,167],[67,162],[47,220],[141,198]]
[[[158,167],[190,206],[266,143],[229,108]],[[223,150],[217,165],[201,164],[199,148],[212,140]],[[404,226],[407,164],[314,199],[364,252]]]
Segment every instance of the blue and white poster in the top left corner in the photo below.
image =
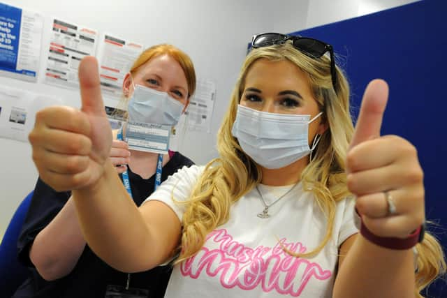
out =
[[36,82],[43,16],[0,3],[0,75]]

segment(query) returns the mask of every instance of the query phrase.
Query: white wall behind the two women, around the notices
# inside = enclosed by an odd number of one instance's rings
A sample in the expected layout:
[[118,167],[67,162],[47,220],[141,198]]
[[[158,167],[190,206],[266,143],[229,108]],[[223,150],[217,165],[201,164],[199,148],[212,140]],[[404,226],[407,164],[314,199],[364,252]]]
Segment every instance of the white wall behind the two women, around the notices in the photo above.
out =
[[[75,22],[108,31],[144,45],[172,43],[187,52],[198,77],[217,84],[217,100],[211,133],[186,131],[182,153],[196,163],[217,156],[215,138],[228,98],[254,33],[291,32],[372,13],[410,0],[6,0],[13,6],[45,16],[43,51],[48,42],[50,18]],[[280,4],[280,5],[279,5]],[[41,62],[46,59],[41,57]],[[41,63],[43,70],[43,63]],[[0,84],[60,96],[67,105],[80,105],[77,91],[41,83],[27,83],[0,77]],[[107,105],[114,101],[106,100]],[[3,166],[0,171],[0,236],[10,217],[29,191],[37,172],[29,144],[0,138]]]

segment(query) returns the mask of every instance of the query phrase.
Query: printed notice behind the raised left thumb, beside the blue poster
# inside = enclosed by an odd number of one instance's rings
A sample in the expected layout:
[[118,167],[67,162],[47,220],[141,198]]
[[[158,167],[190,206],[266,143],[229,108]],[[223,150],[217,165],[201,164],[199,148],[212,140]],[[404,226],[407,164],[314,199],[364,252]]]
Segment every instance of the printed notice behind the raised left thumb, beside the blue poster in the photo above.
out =
[[79,63],[82,58],[95,55],[97,40],[96,30],[53,19],[45,83],[77,89]]

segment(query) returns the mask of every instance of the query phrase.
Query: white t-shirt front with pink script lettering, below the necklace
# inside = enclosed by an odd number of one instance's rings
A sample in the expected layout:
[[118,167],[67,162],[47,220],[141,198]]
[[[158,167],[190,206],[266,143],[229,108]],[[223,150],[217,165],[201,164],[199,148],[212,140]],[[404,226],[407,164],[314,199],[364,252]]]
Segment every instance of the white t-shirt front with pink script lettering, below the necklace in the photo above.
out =
[[259,198],[237,202],[230,221],[208,234],[203,248],[176,274],[231,289],[234,297],[330,297],[338,260],[335,241],[312,258],[291,254],[314,251],[323,241],[327,221],[318,207],[288,200],[275,204],[270,218],[259,218],[262,210]]

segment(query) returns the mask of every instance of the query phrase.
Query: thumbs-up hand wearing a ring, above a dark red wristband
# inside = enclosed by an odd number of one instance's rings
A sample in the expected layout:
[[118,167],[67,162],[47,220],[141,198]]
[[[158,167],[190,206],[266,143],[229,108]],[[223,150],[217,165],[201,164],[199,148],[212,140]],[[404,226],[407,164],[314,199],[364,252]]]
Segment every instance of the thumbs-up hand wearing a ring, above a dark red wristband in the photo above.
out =
[[346,156],[346,174],[366,227],[380,237],[406,238],[425,218],[423,170],[410,142],[396,135],[381,137],[387,100],[386,82],[368,84]]

